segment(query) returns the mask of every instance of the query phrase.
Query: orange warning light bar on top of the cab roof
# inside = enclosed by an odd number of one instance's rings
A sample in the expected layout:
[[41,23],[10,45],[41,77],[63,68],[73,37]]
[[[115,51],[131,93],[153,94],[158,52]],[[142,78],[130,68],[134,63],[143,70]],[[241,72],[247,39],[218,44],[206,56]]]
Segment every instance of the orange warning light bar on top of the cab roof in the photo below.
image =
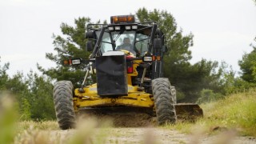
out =
[[110,22],[114,24],[118,23],[134,23],[135,18],[134,15],[119,15],[119,16],[112,16],[110,18]]

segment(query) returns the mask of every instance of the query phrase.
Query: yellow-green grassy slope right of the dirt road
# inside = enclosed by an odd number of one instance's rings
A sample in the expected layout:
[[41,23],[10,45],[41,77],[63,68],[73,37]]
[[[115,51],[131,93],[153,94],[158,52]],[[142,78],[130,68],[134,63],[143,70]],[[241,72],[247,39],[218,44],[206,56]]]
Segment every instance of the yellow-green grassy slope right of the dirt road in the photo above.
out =
[[195,123],[178,122],[165,128],[191,134],[194,131],[214,134],[217,131],[234,130],[242,136],[256,136],[256,89],[232,94],[218,102],[201,105],[204,117]]

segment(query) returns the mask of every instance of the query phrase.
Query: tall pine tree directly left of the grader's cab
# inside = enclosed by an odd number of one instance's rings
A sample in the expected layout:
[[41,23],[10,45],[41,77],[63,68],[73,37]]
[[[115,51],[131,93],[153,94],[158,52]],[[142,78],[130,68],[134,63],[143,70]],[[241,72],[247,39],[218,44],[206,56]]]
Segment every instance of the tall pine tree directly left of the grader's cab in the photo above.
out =
[[86,25],[90,23],[90,18],[74,19],[75,27],[62,23],[61,35],[53,35],[54,50],[58,54],[46,53],[46,58],[56,63],[57,66],[48,70],[38,65],[38,70],[50,78],[60,80],[70,80],[75,86],[82,83],[85,76],[84,66],[64,66],[63,61],[70,58],[88,58],[89,52],[86,52]]

